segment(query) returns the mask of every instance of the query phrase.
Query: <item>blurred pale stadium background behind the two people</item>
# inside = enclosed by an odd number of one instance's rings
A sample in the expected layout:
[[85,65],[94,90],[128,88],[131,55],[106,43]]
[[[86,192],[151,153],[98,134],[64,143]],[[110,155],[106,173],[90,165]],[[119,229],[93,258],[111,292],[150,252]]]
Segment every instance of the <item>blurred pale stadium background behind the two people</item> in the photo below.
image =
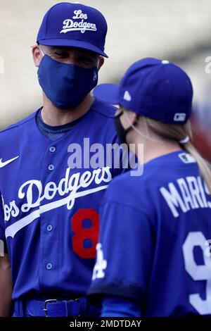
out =
[[[59,0],[0,0],[0,129],[42,104],[30,46],[46,11]],[[71,1],[63,1],[71,2]],[[174,61],[191,77],[193,132],[211,162],[211,0],[84,0],[108,22],[99,83],[118,82],[145,56]]]

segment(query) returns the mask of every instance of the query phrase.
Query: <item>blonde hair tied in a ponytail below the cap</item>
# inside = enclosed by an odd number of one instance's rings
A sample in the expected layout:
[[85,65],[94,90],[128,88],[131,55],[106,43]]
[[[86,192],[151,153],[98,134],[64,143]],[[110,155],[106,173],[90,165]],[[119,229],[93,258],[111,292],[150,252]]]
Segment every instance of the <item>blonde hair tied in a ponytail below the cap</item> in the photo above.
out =
[[[187,136],[190,139],[192,138],[190,121],[185,124],[167,124],[158,122],[157,120],[152,120],[151,118],[146,118],[146,123],[153,132],[167,139],[174,139],[179,142],[180,140],[185,139]],[[198,163],[200,174],[203,177],[203,180],[205,180],[208,191],[211,194],[211,170],[207,161],[205,161],[205,159],[200,156],[191,141],[181,144],[181,148],[191,154],[193,158],[195,158],[196,162]]]

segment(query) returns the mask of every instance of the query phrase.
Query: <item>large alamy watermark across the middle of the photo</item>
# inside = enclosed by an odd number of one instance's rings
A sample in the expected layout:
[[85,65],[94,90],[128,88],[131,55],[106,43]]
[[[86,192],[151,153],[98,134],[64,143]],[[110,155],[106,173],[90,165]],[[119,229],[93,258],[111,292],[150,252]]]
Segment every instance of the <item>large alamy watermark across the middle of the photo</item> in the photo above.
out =
[[[134,153],[139,155],[139,162]],[[83,144],[68,146],[68,167],[71,169],[130,169],[132,176],[143,174],[143,144],[90,144],[90,138],[84,138]]]

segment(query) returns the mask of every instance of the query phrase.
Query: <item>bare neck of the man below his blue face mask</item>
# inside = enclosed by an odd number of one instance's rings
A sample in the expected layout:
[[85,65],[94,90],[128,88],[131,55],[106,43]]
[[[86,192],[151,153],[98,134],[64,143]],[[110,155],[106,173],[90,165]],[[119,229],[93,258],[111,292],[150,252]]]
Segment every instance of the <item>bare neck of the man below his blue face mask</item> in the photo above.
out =
[[44,123],[51,126],[59,126],[70,123],[82,117],[89,111],[94,98],[91,94],[87,94],[81,104],[71,109],[60,109],[52,104],[52,102],[44,94],[44,106],[41,110],[41,117]]

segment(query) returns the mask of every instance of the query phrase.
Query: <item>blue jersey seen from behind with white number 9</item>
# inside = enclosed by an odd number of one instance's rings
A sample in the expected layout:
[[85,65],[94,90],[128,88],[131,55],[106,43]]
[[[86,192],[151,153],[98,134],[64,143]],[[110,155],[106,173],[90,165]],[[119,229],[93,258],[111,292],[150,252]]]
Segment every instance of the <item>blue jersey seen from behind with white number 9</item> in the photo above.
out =
[[117,177],[100,215],[92,300],[122,296],[140,316],[211,315],[211,196],[190,154]]

